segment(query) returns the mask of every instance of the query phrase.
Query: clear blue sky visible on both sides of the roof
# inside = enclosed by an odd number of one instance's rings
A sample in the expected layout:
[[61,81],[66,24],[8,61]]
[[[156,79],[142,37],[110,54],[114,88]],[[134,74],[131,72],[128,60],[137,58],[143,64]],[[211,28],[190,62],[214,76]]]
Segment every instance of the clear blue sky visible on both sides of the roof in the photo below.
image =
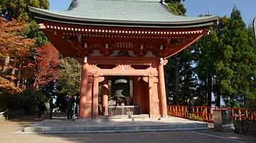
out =
[[[70,6],[71,0],[49,0],[50,10],[65,11]],[[95,0],[92,0],[95,1]],[[200,14],[210,14],[213,16],[228,16],[232,12],[233,6],[237,6],[242,14],[242,20],[246,25],[252,23],[256,17],[256,0],[185,0],[186,16],[197,17]]]

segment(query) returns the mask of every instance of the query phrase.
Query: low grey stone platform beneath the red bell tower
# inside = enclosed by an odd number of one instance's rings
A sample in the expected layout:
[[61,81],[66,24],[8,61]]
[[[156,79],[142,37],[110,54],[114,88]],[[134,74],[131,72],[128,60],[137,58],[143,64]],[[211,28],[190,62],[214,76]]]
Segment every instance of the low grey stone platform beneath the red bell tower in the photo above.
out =
[[183,118],[99,118],[65,120],[55,118],[43,120],[35,125],[25,127],[19,134],[50,133],[102,133],[102,132],[159,132],[176,130],[205,130],[206,122]]

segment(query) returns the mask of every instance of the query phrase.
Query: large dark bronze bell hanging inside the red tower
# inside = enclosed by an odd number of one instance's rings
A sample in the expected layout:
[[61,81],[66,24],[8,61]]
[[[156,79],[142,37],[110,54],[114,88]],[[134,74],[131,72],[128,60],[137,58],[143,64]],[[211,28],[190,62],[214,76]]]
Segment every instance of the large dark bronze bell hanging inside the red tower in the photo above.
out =
[[129,76],[112,76],[112,95],[114,97],[129,96]]

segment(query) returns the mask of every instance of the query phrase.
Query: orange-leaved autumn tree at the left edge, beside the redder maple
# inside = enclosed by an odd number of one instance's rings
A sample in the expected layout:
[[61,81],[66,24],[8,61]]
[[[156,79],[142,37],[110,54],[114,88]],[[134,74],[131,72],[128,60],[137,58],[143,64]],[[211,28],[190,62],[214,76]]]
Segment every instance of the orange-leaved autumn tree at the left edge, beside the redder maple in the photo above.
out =
[[18,76],[21,78],[22,66],[28,62],[29,47],[33,45],[33,40],[19,34],[26,26],[23,21],[6,22],[0,18],[0,92],[21,92]]

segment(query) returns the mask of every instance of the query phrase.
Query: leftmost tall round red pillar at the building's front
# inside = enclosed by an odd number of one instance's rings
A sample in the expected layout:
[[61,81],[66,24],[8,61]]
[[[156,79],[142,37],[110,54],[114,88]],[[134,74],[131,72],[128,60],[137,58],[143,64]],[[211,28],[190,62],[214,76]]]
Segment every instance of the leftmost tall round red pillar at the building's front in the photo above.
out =
[[82,64],[81,88],[80,88],[80,103],[79,103],[79,118],[86,118],[86,95],[88,88],[88,66],[89,64]]

